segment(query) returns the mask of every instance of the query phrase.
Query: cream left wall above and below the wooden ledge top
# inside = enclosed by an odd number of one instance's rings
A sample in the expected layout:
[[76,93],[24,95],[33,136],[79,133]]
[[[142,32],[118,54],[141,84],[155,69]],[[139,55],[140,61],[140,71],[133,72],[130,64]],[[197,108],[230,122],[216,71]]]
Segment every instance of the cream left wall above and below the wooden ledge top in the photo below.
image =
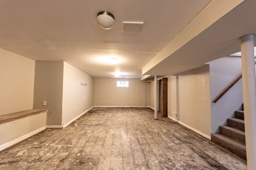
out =
[[[2,48],[0,61],[0,115],[33,109],[35,61]],[[46,112],[1,124],[0,150],[45,127]]]

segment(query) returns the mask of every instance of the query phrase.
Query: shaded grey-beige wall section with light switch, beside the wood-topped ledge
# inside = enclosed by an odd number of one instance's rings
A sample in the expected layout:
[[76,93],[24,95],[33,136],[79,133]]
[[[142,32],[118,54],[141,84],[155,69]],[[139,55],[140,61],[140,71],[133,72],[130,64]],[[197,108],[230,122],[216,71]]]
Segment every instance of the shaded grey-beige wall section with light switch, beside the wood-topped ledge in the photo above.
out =
[[47,126],[62,125],[63,67],[63,61],[36,61],[34,109],[48,109]]

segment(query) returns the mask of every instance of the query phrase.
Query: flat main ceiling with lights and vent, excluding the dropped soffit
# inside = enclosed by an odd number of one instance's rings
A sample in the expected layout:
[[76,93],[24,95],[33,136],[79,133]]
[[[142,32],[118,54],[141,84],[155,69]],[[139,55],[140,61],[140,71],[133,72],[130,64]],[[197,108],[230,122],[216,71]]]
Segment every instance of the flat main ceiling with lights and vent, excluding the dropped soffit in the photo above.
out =
[[[0,47],[41,61],[66,61],[93,77],[140,78],[153,59],[210,0],[1,0]],[[96,22],[106,10],[115,25]],[[124,32],[123,22],[144,22]],[[108,62],[116,57],[117,62]]]

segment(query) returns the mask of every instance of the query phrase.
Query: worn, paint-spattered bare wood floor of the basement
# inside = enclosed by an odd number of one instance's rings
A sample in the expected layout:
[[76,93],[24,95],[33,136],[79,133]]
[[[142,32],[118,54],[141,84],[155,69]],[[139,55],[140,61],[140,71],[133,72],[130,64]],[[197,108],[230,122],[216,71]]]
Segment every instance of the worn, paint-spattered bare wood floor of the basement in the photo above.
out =
[[[94,108],[0,153],[0,169],[244,170],[246,161],[148,108]],[[2,137],[2,136],[1,136]]]

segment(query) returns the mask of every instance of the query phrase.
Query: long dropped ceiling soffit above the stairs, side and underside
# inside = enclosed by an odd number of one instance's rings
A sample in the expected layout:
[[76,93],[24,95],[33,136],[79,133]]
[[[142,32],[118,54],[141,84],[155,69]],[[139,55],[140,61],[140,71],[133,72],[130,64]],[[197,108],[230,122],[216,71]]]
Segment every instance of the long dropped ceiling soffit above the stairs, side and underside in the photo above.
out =
[[175,75],[241,51],[240,37],[256,34],[255,9],[255,0],[212,0],[142,74]]

